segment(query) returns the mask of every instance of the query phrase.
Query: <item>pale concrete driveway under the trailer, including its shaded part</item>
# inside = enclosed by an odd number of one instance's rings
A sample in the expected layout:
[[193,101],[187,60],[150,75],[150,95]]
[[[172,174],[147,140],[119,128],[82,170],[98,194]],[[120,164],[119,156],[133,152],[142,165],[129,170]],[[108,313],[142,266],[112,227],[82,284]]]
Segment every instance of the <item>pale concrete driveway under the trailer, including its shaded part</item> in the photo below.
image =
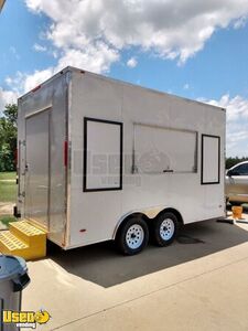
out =
[[23,292],[24,310],[52,316],[37,330],[248,330],[248,224],[191,224],[133,257],[109,243],[52,248]]

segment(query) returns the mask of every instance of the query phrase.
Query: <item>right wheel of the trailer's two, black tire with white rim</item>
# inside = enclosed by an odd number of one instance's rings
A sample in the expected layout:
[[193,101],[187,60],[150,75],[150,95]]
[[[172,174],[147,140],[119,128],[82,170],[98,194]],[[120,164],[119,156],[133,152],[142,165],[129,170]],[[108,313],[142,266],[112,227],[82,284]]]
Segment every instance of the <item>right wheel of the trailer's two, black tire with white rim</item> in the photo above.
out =
[[[175,239],[179,233],[180,224],[175,214],[171,212],[162,213],[161,215],[155,217],[153,222],[152,237],[155,245],[160,247],[170,245]],[[162,226],[163,228],[161,228]]]

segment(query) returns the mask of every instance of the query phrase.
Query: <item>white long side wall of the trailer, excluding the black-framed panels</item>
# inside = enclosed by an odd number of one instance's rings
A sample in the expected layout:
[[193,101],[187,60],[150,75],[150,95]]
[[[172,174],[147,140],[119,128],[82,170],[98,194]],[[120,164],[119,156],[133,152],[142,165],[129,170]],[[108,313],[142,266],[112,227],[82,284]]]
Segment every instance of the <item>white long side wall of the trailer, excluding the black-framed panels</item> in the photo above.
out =
[[[78,71],[73,73],[72,96],[69,247],[114,238],[119,222],[132,212],[155,215],[165,207],[173,207],[181,213],[184,223],[224,215],[223,109]],[[83,192],[84,117],[123,124],[122,190]],[[136,141],[137,124],[139,128],[157,128],[160,134],[142,145],[145,129]],[[160,142],[161,135],[166,137],[164,145]],[[220,137],[222,172],[220,183],[216,185],[201,184],[202,135]],[[163,164],[165,168],[173,164],[175,171],[162,172],[160,163],[151,173],[139,171],[133,154],[137,142],[141,153],[154,145],[159,152],[165,152],[168,147],[168,154],[173,152],[173,157],[170,164]],[[152,157],[150,161],[154,161]]]

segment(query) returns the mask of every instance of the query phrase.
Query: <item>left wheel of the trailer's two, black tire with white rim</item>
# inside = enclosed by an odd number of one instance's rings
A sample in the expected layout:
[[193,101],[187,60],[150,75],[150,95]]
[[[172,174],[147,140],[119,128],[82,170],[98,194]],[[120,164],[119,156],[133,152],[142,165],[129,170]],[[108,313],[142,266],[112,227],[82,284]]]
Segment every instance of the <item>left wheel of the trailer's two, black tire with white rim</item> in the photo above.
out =
[[134,255],[148,245],[148,239],[147,223],[141,218],[131,217],[121,225],[116,241],[122,254]]

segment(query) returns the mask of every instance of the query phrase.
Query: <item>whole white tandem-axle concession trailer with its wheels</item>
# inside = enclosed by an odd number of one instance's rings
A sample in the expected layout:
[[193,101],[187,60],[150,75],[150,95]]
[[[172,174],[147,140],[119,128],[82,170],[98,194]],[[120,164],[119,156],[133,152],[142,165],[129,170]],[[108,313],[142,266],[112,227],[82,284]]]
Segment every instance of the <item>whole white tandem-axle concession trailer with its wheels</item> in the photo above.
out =
[[136,254],[225,215],[225,109],[67,67],[19,98],[18,213]]

